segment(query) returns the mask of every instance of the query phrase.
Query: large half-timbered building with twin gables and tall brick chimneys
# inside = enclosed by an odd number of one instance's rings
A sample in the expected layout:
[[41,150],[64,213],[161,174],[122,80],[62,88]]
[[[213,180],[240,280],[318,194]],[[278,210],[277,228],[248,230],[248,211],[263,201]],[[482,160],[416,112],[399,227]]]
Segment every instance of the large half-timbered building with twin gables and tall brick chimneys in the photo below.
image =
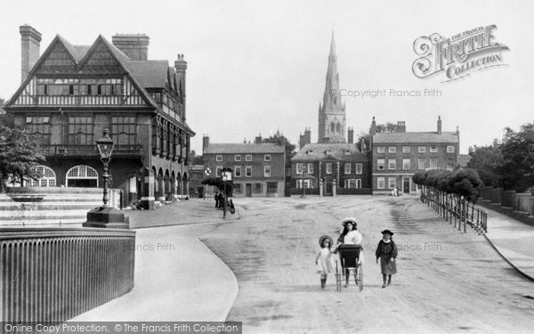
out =
[[187,62],[179,54],[149,61],[150,38],[99,36],[71,45],[61,36],[40,55],[41,34],[21,26],[22,83],[5,110],[36,134],[46,157],[44,177],[30,186],[101,187],[95,141],[109,128],[115,142],[111,187],[123,205],[153,208],[166,195],[187,194],[190,137],[186,123]]

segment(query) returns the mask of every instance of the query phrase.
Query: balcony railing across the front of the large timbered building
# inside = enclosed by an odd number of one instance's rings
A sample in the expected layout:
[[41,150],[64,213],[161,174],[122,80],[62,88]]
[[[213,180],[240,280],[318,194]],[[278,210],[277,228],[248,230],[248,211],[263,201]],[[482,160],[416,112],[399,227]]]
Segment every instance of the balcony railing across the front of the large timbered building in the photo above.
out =
[[[96,145],[63,145],[51,144],[41,145],[39,151],[44,156],[100,156]],[[113,148],[113,155],[142,155],[142,145],[115,145]]]

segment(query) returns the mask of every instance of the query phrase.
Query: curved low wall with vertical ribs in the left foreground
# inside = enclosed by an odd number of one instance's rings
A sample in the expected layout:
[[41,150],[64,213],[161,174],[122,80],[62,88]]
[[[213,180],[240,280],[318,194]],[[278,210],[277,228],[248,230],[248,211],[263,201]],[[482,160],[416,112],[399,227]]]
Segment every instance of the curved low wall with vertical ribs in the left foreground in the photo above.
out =
[[64,322],[134,288],[135,232],[0,228],[0,322]]

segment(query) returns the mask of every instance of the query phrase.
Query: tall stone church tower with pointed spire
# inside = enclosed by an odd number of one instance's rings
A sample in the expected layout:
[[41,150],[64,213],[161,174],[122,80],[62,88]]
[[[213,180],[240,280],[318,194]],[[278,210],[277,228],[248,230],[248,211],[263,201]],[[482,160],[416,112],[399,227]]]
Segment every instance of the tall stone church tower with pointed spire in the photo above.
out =
[[327,83],[322,105],[319,104],[318,143],[346,143],[346,115],[344,103],[339,90],[339,73],[337,73],[336,42],[334,31],[328,55]]

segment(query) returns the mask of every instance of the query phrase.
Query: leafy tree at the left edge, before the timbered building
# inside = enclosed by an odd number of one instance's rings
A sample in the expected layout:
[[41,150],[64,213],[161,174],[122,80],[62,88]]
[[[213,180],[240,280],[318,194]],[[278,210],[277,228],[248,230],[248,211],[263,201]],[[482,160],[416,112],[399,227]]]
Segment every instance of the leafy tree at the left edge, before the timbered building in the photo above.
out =
[[6,191],[10,176],[16,179],[41,177],[35,169],[44,161],[38,144],[20,128],[0,125],[0,192]]

